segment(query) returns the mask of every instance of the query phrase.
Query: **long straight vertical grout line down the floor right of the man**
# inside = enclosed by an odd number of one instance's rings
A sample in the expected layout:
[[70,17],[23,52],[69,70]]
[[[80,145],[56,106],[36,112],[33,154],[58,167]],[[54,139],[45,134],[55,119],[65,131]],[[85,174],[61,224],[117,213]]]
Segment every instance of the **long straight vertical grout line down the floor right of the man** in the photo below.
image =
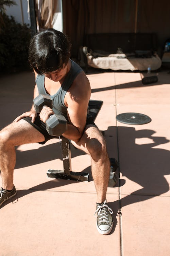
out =
[[[116,73],[114,72],[114,78],[115,78],[115,107],[116,107],[116,116],[117,116],[117,94],[116,94]],[[116,136],[117,136],[117,154],[118,154],[118,163],[119,163],[119,144],[118,144],[118,125],[117,125],[117,120],[116,120]],[[119,163],[119,180],[120,180],[120,163]],[[120,183],[119,183],[120,185]],[[119,186],[119,209],[121,209],[121,204],[120,204],[120,186]],[[122,248],[122,218],[120,215],[120,255],[123,256],[123,248]]]

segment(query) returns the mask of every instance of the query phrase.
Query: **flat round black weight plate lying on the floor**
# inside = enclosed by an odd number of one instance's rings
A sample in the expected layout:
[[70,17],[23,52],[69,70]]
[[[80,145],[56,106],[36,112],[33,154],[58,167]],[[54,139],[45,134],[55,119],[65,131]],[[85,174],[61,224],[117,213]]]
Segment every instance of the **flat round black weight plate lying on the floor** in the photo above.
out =
[[151,122],[149,116],[139,113],[122,113],[116,116],[116,120],[128,125],[143,125]]

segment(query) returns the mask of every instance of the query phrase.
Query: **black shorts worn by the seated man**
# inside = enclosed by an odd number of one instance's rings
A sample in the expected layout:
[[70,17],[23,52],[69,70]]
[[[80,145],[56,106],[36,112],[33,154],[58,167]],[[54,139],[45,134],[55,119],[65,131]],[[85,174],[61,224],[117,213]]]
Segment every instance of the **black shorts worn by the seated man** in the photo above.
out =
[[[56,136],[49,135],[49,133],[46,130],[46,124],[40,120],[39,114],[37,114],[34,123],[31,122],[31,117],[24,117],[23,119],[26,120],[29,124],[35,127],[35,129],[37,129],[40,133],[44,135],[45,140],[42,142],[38,142],[39,144],[45,144],[48,140],[56,138]],[[91,121],[90,118],[87,118],[86,125],[95,125],[95,123]]]

